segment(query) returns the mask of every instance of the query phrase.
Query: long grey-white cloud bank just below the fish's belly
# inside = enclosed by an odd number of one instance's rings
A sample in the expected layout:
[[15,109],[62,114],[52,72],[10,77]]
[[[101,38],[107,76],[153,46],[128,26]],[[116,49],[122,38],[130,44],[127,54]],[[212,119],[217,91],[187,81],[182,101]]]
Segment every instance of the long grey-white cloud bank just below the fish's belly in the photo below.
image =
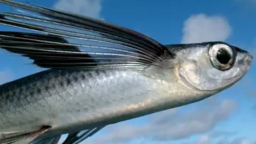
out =
[[103,129],[106,134],[88,139],[87,142],[107,144],[137,138],[161,142],[189,138],[194,134],[211,131],[236,108],[236,102],[233,100],[218,103],[214,102],[214,98],[209,98],[199,104],[202,103],[203,106],[196,103],[196,106],[185,113],[180,113],[178,108],[175,108],[152,114],[148,123],[143,125],[135,126],[127,123],[109,125]]

